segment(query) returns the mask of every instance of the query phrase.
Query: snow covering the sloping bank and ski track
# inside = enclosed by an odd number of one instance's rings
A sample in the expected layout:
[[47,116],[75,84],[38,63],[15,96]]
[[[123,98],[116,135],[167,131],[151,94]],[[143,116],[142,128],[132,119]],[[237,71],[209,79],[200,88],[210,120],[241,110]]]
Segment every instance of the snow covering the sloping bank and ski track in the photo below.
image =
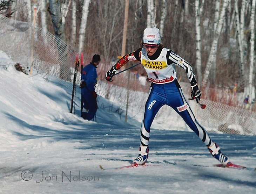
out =
[[[143,113],[126,123],[99,96],[97,122],[85,121],[79,89],[70,114],[71,84],[31,77],[14,64],[0,52],[0,193],[256,193],[256,172],[213,167],[218,161],[184,124],[164,129],[177,115],[151,129],[148,164],[155,166],[100,170],[137,156]],[[233,163],[256,167],[255,136],[210,136]]]

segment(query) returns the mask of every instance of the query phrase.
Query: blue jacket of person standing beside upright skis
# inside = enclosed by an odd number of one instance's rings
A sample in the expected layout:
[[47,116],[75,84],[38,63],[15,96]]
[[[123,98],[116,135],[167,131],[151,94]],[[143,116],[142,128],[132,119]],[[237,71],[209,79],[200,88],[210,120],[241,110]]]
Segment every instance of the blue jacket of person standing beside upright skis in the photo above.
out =
[[92,63],[83,67],[81,80],[86,82],[87,89],[90,92],[95,91],[94,86],[97,84],[97,71],[96,67]]

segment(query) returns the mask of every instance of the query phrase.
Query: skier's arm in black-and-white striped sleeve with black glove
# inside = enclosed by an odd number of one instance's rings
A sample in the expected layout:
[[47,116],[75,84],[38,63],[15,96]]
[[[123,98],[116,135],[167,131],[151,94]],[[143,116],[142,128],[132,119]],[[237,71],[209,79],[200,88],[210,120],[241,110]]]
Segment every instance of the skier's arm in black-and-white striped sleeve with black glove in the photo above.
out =
[[201,92],[197,86],[196,77],[193,72],[192,66],[172,50],[169,50],[167,52],[167,64],[175,64],[178,67],[186,70],[188,80],[191,84],[191,98],[196,99],[196,102],[198,103],[198,101],[200,101]]

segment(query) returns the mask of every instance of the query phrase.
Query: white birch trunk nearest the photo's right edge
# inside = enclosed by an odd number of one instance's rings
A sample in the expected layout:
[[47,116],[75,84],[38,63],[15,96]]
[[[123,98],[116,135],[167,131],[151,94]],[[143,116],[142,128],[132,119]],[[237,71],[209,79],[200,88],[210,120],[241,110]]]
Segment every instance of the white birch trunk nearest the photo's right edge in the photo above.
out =
[[251,31],[251,39],[250,39],[250,72],[249,72],[249,102],[252,100],[252,80],[254,79],[254,48],[255,48],[255,3],[256,0],[252,0],[251,5],[251,21],[250,21],[250,31]]

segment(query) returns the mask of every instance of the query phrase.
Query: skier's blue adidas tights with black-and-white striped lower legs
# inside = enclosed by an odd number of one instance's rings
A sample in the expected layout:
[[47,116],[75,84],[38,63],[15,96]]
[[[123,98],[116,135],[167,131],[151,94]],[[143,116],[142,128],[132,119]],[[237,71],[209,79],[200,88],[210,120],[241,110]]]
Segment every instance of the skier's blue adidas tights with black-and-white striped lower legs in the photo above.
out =
[[155,115],[163,105],[173,108],[207,146],[212,144],[207,131],[196,121],[182,93],[180,84],[175,79],[173,82],[167,84],[151,84],[148,100],[145,105],[144,118],[141,124],[141,145],[148,145],[150,126]]

